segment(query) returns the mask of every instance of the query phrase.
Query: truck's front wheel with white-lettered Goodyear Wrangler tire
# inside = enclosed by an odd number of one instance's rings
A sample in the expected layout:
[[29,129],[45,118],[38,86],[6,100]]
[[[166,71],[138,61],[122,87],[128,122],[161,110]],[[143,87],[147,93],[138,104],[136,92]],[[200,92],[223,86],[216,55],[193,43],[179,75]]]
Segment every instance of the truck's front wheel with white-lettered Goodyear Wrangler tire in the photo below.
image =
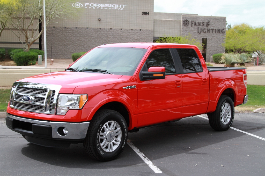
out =
[[83,145],[91,158],[110,161],[122,153],[127,142],[127,134],[127,124],[120,113],[99,110],[92,118]]

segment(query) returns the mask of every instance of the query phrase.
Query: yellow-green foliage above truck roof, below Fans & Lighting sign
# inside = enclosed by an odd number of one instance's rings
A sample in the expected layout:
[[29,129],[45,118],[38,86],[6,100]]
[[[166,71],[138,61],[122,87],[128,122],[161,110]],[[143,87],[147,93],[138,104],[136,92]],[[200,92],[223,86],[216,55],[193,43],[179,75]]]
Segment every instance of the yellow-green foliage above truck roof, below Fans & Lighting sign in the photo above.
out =
[[202,43],[194,39],[192,35],[180,36],[180,37],[159,37],[156,43],[178,43],[178,44],[190,44],[196,45],[200,50],[202,49]]

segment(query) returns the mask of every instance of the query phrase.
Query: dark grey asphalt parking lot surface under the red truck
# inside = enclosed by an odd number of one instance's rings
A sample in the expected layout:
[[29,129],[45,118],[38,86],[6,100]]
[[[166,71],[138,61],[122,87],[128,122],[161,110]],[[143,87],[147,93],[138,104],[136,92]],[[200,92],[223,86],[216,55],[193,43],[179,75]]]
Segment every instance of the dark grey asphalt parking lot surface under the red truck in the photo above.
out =
[[[232,127],[265,138],[265,113],[236,113]],[[264,140],[233,129],[214,131],[199,116],[140,129],[129,133],[129,140],[162,173],[129,145],[119,158],[99,162],[86,155],[82,144],[30,144],[1,119],[0,175],[265,175]]]

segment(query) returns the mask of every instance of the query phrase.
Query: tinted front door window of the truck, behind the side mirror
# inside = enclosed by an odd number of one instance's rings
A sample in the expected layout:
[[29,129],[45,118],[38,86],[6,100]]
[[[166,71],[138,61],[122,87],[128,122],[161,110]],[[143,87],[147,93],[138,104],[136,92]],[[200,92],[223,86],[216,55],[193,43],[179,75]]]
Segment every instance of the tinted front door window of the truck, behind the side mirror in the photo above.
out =
[[147,68],[162,66],[166,68],[166,74],[176,73],[174,62],[169,49],[154,50],[146,60]]

